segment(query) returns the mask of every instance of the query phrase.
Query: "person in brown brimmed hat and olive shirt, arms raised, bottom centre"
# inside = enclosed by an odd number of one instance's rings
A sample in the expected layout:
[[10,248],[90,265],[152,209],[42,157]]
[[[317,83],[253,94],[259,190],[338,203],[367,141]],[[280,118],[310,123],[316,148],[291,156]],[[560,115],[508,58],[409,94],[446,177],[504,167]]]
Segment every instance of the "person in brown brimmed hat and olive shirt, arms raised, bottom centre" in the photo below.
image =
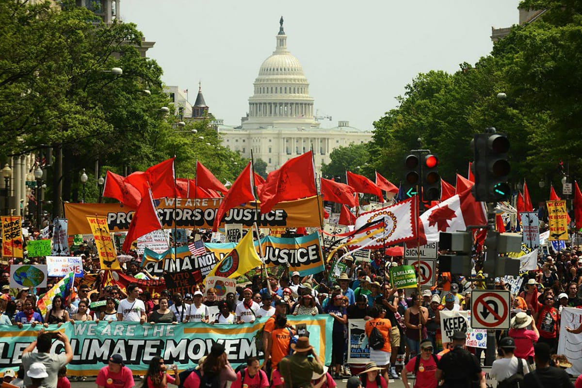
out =
[[[282,381],[276,382],[274,373],[273,385],[279,383],[284,384],[285,388],[313,388],[313,373],[323,373],[324,367],[310,345],[309,337],[299,337],[296,344],[291,344],[291,348],[293,354],[279,362],[278,371]],[[313,357],[309,357],[311,355]]]

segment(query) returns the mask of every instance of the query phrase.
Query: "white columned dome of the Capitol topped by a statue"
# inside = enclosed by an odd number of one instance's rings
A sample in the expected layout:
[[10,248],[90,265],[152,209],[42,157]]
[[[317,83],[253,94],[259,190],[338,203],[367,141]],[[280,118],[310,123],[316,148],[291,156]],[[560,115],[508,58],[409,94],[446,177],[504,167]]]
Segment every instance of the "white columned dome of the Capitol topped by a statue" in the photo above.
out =
[[287,49],[287,35],[281,27],[275,51],[262,62],[249,98],[249,113],[243,128],[318,127],[313,117],[313,101],[303,67]]

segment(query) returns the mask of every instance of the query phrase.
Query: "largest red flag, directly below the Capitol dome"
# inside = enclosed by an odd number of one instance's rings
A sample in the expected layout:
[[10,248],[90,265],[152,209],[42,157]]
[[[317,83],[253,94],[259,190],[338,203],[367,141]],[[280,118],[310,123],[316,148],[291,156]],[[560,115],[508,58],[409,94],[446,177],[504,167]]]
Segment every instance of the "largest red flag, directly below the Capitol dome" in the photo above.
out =
[[270,212],[282,201],[299,200],[299,198],[317,195],[313,152],[308,151],[289,159],[281,168],[269,172],[265,183],[257,187],[257,194],[261,200],[261,213]]

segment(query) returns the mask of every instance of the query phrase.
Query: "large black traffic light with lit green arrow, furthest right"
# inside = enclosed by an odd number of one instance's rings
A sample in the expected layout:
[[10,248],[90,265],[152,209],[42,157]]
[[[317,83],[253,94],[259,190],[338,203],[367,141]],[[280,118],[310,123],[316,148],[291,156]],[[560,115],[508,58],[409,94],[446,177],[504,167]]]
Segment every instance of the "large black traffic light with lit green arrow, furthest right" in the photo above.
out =
[[509,198],[511,190],[508,175],[511,167],[508,162],[509,140],[504,134],[495,133],[495,128],[488,133],[475,134],[471,140],[474,152],[473,173],[475,200],[498,202]]

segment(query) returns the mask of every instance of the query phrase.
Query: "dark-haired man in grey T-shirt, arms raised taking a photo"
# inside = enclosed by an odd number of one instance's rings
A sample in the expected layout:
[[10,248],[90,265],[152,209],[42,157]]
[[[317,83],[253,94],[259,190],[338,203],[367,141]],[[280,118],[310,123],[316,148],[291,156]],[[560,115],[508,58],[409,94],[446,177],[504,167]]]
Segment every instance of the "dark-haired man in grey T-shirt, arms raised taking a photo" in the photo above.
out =
[[[65,353],[53,354],[50,353],[52,347],[52,340],[59,340],[65,345]],[[34,348],[37,352],[33,353]],[[24,386],[30,386],[32,381],[28,375],[31,364],[41,362],[47,369],[47,377],[42,381],[42,386],[46,388],[56,388],[58,380],[59,369],[69,364],[73,359],[73,348],[69,342],[69,338],[63,332],[47,333],[44,330],[38,332],[36,341],[33,341],[29,346],[22,351],[22,365],[24,367]]]

